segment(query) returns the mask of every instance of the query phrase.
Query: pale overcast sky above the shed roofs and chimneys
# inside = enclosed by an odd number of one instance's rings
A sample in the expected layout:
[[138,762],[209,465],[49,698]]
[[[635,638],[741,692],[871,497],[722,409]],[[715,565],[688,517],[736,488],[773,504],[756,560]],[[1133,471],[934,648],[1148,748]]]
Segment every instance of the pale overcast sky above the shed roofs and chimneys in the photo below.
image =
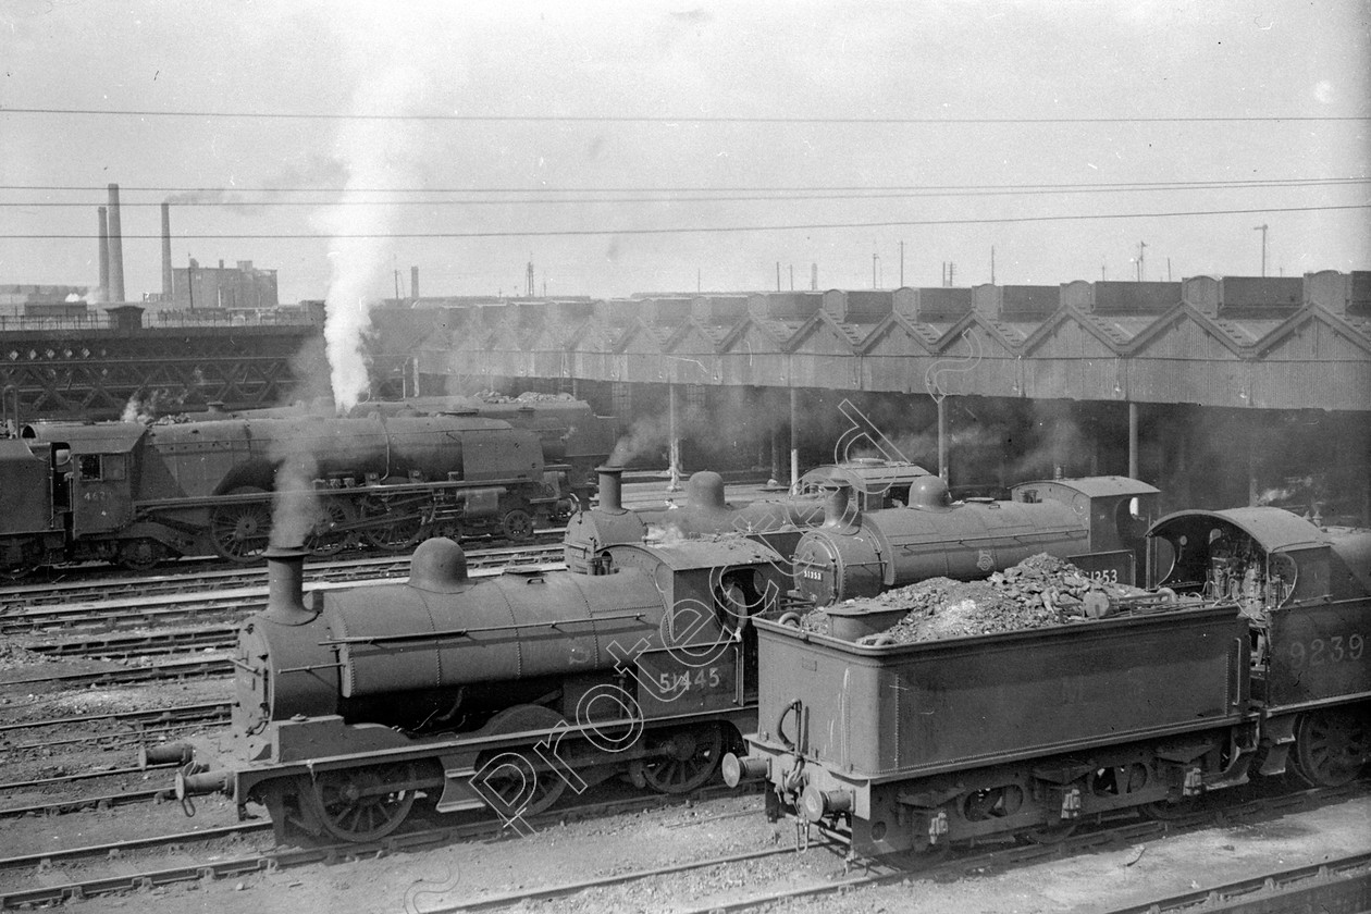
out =
[[3,0],[0,284],[95,285],[108,182],[130,300],[165,199],[282,301],[1364,270],[1367,8]]

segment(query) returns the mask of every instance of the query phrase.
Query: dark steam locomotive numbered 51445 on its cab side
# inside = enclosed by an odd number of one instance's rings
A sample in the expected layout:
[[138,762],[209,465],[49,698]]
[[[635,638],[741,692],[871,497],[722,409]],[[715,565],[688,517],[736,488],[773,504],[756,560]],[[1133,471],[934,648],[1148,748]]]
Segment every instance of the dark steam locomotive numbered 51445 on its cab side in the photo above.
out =
[[270,606],[237,648],[239,761],[178,791],[260,802],[282,836],[354,841],[398,828],[420,795],[515,822],[618,774],[695,789],[755,726],[750,619],[777,615],[786,584],[742,537],[481,581],[433,539],[404,584],[307,596],[303,552],[267,558]]

